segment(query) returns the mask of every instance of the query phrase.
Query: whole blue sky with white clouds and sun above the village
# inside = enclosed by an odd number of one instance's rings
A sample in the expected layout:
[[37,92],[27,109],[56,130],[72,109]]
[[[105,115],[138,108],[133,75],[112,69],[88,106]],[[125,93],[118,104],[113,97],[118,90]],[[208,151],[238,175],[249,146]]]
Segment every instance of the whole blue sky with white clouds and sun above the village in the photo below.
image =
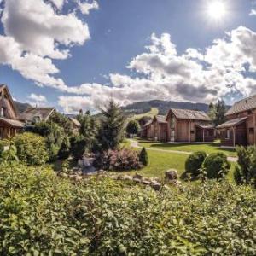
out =
[[256,93],[256,1],[0,0],[0,84],[64,113]]

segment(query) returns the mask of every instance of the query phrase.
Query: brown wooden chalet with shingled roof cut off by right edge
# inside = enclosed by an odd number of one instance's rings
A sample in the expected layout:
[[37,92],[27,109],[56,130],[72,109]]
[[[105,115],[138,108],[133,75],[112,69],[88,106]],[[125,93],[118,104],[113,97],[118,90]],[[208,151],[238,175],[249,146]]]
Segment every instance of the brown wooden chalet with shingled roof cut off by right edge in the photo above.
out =
[[256,95],[236,102],[226,118],[227,122],[217,127],[222,147],[256,145]]

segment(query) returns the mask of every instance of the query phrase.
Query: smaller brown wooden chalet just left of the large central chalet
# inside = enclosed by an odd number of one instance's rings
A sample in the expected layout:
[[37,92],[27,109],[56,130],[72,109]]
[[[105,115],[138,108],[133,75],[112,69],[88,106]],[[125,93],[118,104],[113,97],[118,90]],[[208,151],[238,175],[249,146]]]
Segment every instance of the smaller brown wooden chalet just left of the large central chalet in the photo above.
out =
[[145,137],[154,141],[166,141],[167,139],[167,122],[163,115],[154,116],[153,120],[148,121],[143,126],[141,137]]

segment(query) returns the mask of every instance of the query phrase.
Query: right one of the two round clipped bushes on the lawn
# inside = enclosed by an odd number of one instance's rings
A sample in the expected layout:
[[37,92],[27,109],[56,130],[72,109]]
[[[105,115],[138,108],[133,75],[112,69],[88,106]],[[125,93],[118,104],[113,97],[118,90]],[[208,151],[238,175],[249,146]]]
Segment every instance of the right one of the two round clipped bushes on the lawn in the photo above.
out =
[[224,177],[230,170],[230,163],[223,153],[212,153],[207,156],[204,168],[208,178]]

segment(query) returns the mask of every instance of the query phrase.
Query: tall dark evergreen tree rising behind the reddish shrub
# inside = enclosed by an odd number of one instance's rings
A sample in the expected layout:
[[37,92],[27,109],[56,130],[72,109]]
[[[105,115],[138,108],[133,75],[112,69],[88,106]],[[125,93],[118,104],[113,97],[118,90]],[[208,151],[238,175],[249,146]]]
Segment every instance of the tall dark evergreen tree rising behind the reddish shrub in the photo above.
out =
[[98,132],[98,143],[102,150],[116,149],[124,139],[125,116],[119,105],[111,100],[105,109]]

